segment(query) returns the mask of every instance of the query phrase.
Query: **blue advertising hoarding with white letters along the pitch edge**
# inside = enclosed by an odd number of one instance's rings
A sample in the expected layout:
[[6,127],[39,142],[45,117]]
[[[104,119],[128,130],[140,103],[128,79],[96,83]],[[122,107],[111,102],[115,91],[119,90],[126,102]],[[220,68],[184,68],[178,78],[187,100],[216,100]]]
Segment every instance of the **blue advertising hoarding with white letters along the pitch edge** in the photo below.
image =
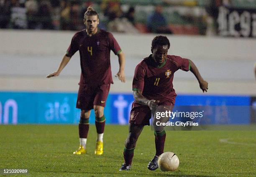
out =
[[[174,111],[203,105],[209,124],[249,124],[250,96],[179,95]],[[0,92],[0,124],[78,124],[75,93]],[[132,94],[109,94],[104,114],[107,124],[128,124]],[[225,118],[227,117],[227,118]],[[95,122],[91,111],[90,123]]]

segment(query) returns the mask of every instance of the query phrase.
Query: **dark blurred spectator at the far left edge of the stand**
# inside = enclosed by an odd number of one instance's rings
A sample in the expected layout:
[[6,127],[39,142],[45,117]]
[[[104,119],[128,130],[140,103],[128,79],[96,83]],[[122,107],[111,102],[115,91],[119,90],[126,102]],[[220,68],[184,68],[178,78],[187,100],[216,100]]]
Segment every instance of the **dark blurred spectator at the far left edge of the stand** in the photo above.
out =
[[0,28],[8,28],[10,22],[10,0],[0,0]]

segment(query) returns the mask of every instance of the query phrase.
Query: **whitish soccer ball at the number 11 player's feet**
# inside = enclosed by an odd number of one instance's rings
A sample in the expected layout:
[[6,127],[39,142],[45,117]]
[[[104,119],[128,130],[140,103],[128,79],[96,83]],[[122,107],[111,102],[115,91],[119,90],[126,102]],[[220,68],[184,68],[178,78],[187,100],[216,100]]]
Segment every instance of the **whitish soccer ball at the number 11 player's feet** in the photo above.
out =
[[161,171],[175,171],[179,167],[179,158],[173,152],[164,152],[157,161]]

